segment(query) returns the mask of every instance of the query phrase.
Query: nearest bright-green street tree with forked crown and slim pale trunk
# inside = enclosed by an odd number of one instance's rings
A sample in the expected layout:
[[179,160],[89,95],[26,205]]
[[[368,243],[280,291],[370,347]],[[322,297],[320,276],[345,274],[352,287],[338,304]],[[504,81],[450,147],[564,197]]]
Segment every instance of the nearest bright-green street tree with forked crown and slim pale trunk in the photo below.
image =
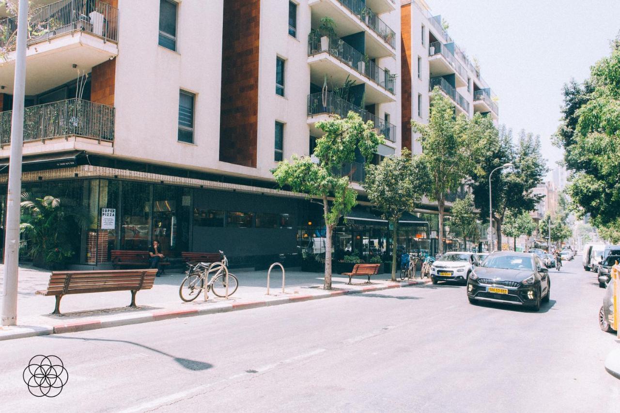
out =
[[334,115],[329,120],[316,123],[325,132],[317,139],[314,156],[319,163],[308,156],[293,156],[290,161],[281,161],[273,169],[273,177],[281,187],[288,186],[294,192],[319,198],[323,204],[325,220],[325,283],[332,288],[332,232],[340,218],[356,203],[357,192],[349,187],[349,177],[340,177],[334,172],[348,162],[355,161],[359,150],[366,162],[370,161],[383,136],[377,135],[373,122],[364,123],[360,115],[349,112],[346,118]]

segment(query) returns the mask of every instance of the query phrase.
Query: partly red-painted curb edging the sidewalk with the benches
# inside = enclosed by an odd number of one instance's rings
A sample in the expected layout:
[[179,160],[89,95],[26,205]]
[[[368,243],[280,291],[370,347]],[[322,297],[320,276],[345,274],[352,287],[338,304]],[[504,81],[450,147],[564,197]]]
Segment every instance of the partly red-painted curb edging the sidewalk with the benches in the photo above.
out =
[[[322,298],[331,298],[342,295],[353,295],[370,293],[373,291],[389,290],[391,288],[404,288],[414,285],[425,285],[430,283],[427,281],[407,281],[397,282],[396,284],[366,286],[360,290],[335,290],[324,291],[317,295],[296,295],[290,297],[278,297],[273,300],[245,301],[235,304],[219,304],[209,308],[172,310],[172,311],[154,311],[152,313],[141,314],[123,314],[117,319],[112,320],[89,320],[82,322],[68,322],[58,324],[56,326],[11,326],[0,329],[0,341],[23,339],[25,337],[35,337],[37,335],[63,334],[79,331],[88,331],[96,329],[104,329],[108,327],[128,326],[130,324],[141,324],[143,322],[169,320],[174,318],[204,316],[206,314],[228,313],[229,311],[239,311],[244,309],[278,306],[281,304],[298,303],[301,301],[320,300]],[[611,354],[610,354],[611,356]],[[608,357],[609,359],[609,357]],[[620,362],[620,355],[618,357]],[[613,374],[613,373],[612,373]],[[620,377],[619,377],[620,378]]]

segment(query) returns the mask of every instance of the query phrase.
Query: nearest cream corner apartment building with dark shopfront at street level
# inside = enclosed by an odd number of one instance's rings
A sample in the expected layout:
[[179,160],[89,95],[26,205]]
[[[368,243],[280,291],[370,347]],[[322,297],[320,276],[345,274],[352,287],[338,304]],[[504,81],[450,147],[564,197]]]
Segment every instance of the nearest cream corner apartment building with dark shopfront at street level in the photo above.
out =
[[[386,136],[373,161],[402,146],[394,0],[33,7],[23,188],[97,217],[76,231],[73,264],[109,265],[112,250],[146,250],[153,239],[170,257],[221,249],[234,265],[298,259],[304,239],[320,238],[321,208],[277,189],[270,172],[277,162],[311,154],[321,136],[316,122],[350,110]],[[0,19],[15,29],[15,17]],[[13,52],[0,62],[4,165],[14,65]],[[361,182],[363,159],[340,172]],[[2,221],[5,202],[1,195]],[[366,211],[356,213],[352,222],[362,222]],[[352,231],[341,231],[342,248],[369,250],[370,229]]]

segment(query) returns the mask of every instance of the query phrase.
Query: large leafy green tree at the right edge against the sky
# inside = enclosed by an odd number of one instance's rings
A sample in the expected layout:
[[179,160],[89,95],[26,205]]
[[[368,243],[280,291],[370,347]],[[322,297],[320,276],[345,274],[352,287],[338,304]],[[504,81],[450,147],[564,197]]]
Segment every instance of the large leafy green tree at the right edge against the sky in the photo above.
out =
[[620,218],[620,36],[611,55],[591,68],[590,78],[565,86],[562,123],[555,143],[573,170],[567,189],[579,217],[599,225]]

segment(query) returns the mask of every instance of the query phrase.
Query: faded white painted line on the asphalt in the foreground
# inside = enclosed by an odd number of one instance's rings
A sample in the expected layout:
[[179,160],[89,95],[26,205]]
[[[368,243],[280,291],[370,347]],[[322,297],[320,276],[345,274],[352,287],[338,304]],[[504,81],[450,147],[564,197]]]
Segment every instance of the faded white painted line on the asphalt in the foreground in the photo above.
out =
[[[144,412],[144,411],[148,411],[148,410],[153,410],[153,409],[157,409],[159,407],[161,407],[164,404],[169,404],[171,402],[176,402],[179,401],[181,399],[187,399],[189,397],[193,397],[193,396],[197,396],[198,394],[203,394],[205,393],[205,390],[213,387],[213,386],[217,386],[218,384],[223,384],[226,383],[228,381],[232,381],[232,380],[237,380],[239,378],[242,377],[248,377],[248,378],[252,378],[257,376],[257,374],[260,373],[266,373],[269,370],[273,370],[279,366],[282,365],[286,365],[286,364],[291,364],[294,362],[298,362],[300,360],[304,360],[305,358],[310,358],[313,357],[315,355],[321,354],[323,352],[327,351],[326,349],[317,349],[308,353],[303,353],[300,355],[297,355],[295,357],[291,357],[291,358],[287,358],[286,360],[281,360],[280,362],[277,363],[273,363],[270,365],[265,365],[262,366],[260,368],[255,369],[255,371],[257,371],[257,373],[247,373],[246,371],[244,371],[243,373],[238,373],[236,375],[232,375],[228,378],[222,379],[222,380],[218,380],[218,381],[214,381],[213,383],[207,383],[207,384],[203,384],[201,386],[196,386],[194,388],[191,389],[187,389],[185,391],[180,391],[178,393],[173,393],[173,394],[169,394],[168,396],[163,396],[163,397],[159,397],[158,399],[154,399],[152,401],[140,404],[139,406],[133,406],[130,407],[128,409],[125,409],[122,411],[122,413],[133,413],[133,412]],[[250,370],[252,371],[252,370]]]

